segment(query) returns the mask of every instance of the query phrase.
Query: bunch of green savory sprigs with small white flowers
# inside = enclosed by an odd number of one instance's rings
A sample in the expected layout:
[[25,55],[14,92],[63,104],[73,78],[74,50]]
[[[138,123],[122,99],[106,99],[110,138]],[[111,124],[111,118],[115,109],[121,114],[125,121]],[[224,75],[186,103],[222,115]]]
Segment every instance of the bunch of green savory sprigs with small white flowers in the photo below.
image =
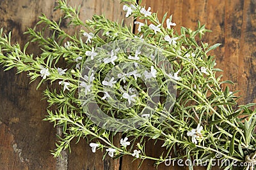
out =
[[[171,160],[201,160],[196,166],[207,169],[214,159],[225,169],[253,169],[256,111],[250,107],[255,104],[237,106],[236,92],[227,85],[232,81],[216,77],[221,69],[209,51],[220,44],[200,41],[208,31],[200,22],[195,31],[176,31],[167,13],[159,20],[141,1],[122,3],[138,34],[102,15],[83,22],[79,8],[61,0],[62,20],[81,28],[74,35],[61,29],[61,20],[42,15],[37,25],[44,29],[28,29],[31,41],[21,49],[1,29],[0,62],[6,70],[26,71],[31,81],[40,80],[38,87],[51,82],[44,95],[54,110],[49,107],[44,120],[63,131],[54,157],[70,148],[70,141],[86,138],[92,152],[104,152],[104,157],[131,155],[158,165],[172,152]],[[42,50],[36,57],[26,53],[33,42]],[[122,138],[114,145],[118,132]],[[149,139],[163,143],[161,155],[147,155]]]

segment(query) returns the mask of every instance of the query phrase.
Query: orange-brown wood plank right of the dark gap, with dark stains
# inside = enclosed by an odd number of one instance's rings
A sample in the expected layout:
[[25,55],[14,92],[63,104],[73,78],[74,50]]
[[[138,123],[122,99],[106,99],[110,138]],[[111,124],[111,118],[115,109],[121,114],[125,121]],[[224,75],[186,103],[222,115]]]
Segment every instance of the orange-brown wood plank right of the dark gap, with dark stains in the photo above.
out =
[[[256,101],[256,2],[253,0],[143,0],[146,8],[150,6],[152,11],[158,12],[159,20],[166,11],[173,15],[173,22],[180,26],[196,28],[197,21],[206,24],[206,28],[212,30],[205,34],[204,42],[213,45],[222,45],[212,52],[216,55],[217,66],[223,69],[222,80],[232,80],[235,83],[232,90],[241,90],[239,104]],[[137,26],[137,25],[136,25]],[[150,145],[152,155],[161,145]],[[131,157],[124,157],[122,169],[136,169],[138,161],[131,164]],[[150,166],[148,166],[150,165]],[[152,162],[145,160],[140,169],[155,169]],[[159,167],[159,169],[167,169]],[[168,167],[168,169],[182,169],[182,167]],[[187,167],[188,169],[188,167]],[[196,167],[196,169],[205,169]],[[218,167],[214,167],[218,169]]]

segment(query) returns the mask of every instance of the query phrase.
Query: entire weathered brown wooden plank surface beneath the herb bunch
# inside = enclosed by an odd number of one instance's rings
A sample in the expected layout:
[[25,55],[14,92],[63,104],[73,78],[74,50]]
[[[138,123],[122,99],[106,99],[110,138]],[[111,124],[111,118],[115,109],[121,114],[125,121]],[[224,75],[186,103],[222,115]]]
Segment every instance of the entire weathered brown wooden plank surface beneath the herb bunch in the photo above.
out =
[[[81,4],[81,18],[91,18],[93,13],[104,14],[111,20],[121,20],[125,13],[118,0],[74,0]],[[255,0],[143,0],[152,11],[163,16],[165,11],[173,15],[173,22],[195,29],[197,20],[206,24],[204,41],[222,43],[212,53],[217,66],[224,70],[224,78],[236,83],[232,90],[241,90],[244,97],[239,104],[256,102],[256,1]],[[0,1],[0,27],[13,32],[13,42],[24,45],[22,32],[33,27],[40,13],[58,20],[61,13],[54,11],[54,0],[5,0]],[[127,20],[131,23],[131,20]],[[72,33],[74,30],[67,30]],[[30,48],[38,53],[38,48]],[[137,169],[138,160],[132,157],[121,160],[102,160],[102,154],[91,152],[90,146],[81,140],[72,145],[72,153],[64,153],[65,159],[53,159],[49,150],[54,149],[56,129],[43,122],[47,103],[41,101],[42,90],[36,91],[36,82],[29,84],[26,74],[15,75],[15,69],[0,69],[0,170],[1,169]],[[74,141],[75,143],[75,141]],[[161,147],[149,142],[147,152],[159,154]],[[154,162],[145,160],[140,169],[155,169]],[[188,169],[166,167],[159,169]],[[202,168],[198,168],[202,169]]]

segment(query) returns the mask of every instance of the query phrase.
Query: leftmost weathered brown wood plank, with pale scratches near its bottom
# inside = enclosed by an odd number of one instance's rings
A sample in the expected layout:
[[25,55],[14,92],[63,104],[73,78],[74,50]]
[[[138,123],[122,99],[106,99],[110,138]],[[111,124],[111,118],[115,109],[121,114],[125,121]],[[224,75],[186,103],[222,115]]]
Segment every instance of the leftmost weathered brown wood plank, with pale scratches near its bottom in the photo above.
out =
[[[0,27],[12,31],[13,42],[24,45],[28,38],[22,32],[35,25],[40,13],[51,17],[53,6],[54,1],[0,1]],[[1,169],[56,169],[49,152],[54,149],[55,130],[42,121],[47,107],[41,101],[43,88],[36,91],[36,82],[29,85],[26,73],[15,72],[0,72]]]

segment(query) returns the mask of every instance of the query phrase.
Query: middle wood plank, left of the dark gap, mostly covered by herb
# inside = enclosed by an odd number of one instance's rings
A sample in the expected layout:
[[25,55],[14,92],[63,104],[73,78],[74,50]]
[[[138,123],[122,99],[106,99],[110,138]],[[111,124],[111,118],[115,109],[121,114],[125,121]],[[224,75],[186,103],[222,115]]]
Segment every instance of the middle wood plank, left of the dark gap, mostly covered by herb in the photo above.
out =
[[[132,18],[125,18],[122,5],[118,0],[88,0],[70,1],[71,6],[81,5],[80,17],[82,20],[92,19],[92,15],[105,15],[109,20],[120,23],[124,19],[124,24],[131,24]],[[119,145],[120,134],[116,136],[116,145]],[[71,153],[68,153],[68,169],[119,169],[120,159],[113,160],[108,155],[102,160],[103,153],[97,151],[92,153],[92,148],[81,139],[78,144],[72,143]]]

